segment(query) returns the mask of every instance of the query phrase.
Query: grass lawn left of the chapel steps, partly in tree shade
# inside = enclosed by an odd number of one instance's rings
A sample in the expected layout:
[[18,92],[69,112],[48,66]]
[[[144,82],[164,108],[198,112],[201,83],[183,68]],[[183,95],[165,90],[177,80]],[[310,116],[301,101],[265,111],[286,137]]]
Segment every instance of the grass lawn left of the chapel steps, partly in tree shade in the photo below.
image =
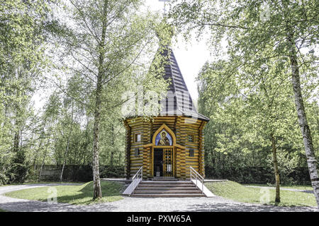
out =
[[[121,182],[105,182],[101,181],[102,196],[100,201],[92,201],[93,197],[93,182],[87,182],[83,185],[67,185],[53,186],[57,189],[57,202],[70,203],[77,205],[89,205],[94,203],[112,202],[121,200],[124,184]],[[29,200],[47,201],[49,186],[42,186],[33,189],[23,189],[19,191],[11,191],[5,196],[12,198],[23,198]]]

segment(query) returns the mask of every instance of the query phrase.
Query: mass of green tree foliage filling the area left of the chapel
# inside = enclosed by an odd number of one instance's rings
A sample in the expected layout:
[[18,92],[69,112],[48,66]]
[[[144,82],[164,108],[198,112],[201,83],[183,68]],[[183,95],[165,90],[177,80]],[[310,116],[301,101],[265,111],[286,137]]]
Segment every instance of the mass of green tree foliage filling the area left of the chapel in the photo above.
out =
[[[97,74],[103,165],[124,163],[122,93],[136,95],[140,88],[159,93],[167,87],[159,76],[161,57],[148,69],[158,41],[155,30],[166,37],[169,27],[158,15],[140,11],[142,1],[69,3],[1,3],[1,184],[39,179],[46,164],[91,164]],[[52,93],[34,112],[31,98],[39,89]]]

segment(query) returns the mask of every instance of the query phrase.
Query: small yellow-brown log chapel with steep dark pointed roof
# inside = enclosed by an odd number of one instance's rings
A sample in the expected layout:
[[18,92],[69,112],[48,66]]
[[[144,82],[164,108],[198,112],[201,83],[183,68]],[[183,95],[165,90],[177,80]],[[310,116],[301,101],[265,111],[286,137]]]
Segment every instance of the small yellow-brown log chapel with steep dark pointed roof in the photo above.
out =
[[205,177],[203,129],[209,119],[197,112],[172,49],[162,54],[167,57],[163,76],[170,84],[160,113],[151,122],[142,117],[124,120],[126,177],[140,167],[143,179],[189,179],[190,167]]

